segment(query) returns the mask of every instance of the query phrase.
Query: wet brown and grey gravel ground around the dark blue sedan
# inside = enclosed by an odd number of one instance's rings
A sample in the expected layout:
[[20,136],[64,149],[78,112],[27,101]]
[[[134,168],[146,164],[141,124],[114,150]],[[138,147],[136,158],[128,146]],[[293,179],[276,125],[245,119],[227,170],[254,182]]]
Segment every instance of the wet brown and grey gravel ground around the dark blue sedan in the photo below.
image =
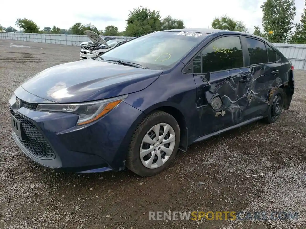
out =
[[[0,40],[0,228],[306,228],[304,71],[295,70],[294,98],[278,122],[259,121],[194,144],[154,177],[129,171],[58,174],[36,165],[14,144],[7,100],[25,79],[78,60],[79,51]],[[257,174],[263,175],[246,177]],[[168,210],[299,215],[295,220],[149,220],[149,211]]]

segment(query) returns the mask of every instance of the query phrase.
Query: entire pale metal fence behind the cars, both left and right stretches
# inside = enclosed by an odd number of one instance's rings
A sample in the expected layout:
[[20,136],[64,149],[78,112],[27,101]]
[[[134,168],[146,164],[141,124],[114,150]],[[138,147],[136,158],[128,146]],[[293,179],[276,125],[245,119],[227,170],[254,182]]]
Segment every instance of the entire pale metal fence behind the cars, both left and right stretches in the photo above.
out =
[[[107,36],[117,39],[134,37]],[[0,39],[11,39],[18,41],[41,42],[48,44],[80,46],[81,42],[88,42],[86,35],[65,34],[36,34],[36,33],[0,33]],[[288,58],[295,69],[306,70],[306,45],[304,44],[273,44]]]

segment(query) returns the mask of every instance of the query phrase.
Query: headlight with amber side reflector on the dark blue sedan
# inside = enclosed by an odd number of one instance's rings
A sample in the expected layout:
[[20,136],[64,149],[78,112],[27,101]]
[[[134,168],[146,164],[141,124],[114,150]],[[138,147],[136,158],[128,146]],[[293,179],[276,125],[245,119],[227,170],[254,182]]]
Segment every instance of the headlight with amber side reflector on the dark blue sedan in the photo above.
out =
[[79,115],[77,125],[84,125],[101,118],[117,107],[128,95],[78,104],[38,104],[38,111],[62,111]]

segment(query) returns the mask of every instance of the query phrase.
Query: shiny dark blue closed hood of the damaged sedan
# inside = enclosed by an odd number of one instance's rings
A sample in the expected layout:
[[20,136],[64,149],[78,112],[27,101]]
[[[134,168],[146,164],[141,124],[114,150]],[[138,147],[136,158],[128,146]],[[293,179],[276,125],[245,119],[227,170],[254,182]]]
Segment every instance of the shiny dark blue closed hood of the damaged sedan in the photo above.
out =
[[27,79],[21,87],[46,100],[76,103],[143,90],[161,73],[89,59],[47,68]]

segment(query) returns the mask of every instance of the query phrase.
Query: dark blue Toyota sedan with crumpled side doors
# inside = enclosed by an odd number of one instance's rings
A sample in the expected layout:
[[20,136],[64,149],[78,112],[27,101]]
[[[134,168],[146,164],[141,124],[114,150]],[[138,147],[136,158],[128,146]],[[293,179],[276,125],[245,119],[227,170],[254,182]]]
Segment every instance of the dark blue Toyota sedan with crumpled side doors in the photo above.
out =
[[50,67],[9,99],[13,138],[57,170],[152,176],[178,149],[288,110],[293,65],[267,40],[177,29]]

